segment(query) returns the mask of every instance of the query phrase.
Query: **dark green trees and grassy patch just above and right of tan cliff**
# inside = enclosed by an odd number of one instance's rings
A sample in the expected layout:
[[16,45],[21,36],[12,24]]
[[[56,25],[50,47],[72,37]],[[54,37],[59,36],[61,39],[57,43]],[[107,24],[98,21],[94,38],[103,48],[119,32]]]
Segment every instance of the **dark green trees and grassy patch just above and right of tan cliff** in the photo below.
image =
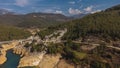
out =
[[86,58],[87,53],[80,51],[80,45],[73,42],[66,43],[51,43],[47,46],[48,54],[62,54],[63,58],[74,62],[75,64],[80,63],[80,60]]

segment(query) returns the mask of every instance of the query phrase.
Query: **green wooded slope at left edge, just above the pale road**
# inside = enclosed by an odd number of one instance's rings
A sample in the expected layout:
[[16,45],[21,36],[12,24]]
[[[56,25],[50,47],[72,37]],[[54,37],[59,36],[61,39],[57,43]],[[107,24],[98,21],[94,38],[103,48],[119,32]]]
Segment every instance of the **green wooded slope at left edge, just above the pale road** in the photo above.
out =
[[31,34],[28,31],[20,28],[0,25],[0,41],[24,39],[29,37],[30,35]]

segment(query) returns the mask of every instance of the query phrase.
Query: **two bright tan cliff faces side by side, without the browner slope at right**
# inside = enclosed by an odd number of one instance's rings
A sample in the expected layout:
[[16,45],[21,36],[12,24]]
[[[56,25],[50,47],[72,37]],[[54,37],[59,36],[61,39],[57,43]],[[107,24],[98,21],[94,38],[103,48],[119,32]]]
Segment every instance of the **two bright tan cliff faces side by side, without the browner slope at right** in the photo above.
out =
[[60,60],[60,55],[45,55],[45,53],[34,53],[21,58],[19,67],[38,66],[39,68],[54,68]]

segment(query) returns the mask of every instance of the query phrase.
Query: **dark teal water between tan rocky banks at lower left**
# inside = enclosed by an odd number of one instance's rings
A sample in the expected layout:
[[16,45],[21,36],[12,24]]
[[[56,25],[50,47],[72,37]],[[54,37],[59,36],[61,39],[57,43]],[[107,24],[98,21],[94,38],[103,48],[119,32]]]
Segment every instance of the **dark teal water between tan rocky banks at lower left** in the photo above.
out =
[[16,55],[12,50],[7,51],[7,61],[0,68],[17,68],[20,60],[20,55]]

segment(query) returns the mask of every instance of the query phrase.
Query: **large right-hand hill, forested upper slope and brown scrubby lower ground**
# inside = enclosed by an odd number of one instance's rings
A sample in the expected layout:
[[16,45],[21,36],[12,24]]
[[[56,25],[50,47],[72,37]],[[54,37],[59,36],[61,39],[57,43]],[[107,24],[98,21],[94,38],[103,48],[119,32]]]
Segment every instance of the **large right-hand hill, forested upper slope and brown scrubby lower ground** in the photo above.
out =
[[67,28],[61,43],[49,45],[47,53],[60,53],[78,68],[119,68],[120,11],[106,10],[39,32],[44,40],[46,35]]

